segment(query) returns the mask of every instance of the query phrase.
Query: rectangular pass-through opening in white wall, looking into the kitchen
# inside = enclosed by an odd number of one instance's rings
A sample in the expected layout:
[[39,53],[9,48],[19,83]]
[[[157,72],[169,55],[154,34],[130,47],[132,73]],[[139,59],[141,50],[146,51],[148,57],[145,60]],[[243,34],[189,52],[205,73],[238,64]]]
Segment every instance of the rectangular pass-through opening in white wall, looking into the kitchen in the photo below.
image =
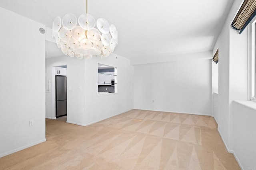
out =
[[117,92],[117,68],[98,64],[98,94]]

